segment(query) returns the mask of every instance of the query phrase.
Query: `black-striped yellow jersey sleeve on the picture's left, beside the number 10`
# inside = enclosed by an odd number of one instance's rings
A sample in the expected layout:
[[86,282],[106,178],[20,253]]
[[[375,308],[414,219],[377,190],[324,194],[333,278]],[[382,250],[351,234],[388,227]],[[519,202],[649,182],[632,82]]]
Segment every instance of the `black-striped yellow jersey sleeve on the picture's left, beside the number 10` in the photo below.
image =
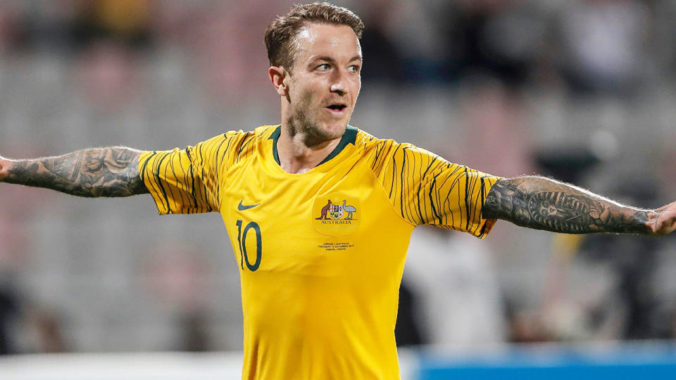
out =
[[139,174],[160,215],[217,211],[219,178],[227,170],[230,151],[241,132],[227,132],[195,146],[170,151],[145,151]]

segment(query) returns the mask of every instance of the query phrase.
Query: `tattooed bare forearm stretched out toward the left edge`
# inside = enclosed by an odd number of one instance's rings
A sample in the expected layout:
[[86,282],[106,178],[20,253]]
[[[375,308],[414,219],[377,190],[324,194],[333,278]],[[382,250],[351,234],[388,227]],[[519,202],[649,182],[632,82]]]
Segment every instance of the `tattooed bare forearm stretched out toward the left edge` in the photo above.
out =
[[63,156],[17,160],[5,182],[44,187],[75,196],[132,196],[148,190],[139,177],[141,152],[115,146]]

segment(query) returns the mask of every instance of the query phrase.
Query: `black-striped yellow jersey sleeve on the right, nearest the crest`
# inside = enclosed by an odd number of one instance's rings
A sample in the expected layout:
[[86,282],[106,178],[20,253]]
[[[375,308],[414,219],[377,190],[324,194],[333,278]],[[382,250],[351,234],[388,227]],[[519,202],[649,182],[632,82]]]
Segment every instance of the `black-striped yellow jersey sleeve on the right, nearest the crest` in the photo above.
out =
[[411,144],[380,141],[372,168],[394,208],[411,224],[486,236],[496,220],[483,219],[481,208],[500,177],[449,163]]

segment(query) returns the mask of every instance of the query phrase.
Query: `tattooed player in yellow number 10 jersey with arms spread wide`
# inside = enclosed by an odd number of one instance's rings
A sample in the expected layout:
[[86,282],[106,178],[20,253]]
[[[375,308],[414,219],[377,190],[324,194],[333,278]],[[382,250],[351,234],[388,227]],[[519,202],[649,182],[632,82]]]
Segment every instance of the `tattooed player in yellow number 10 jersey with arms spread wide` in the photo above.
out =
[[540,177],[501,179],[348,125],[363,23],[330,4],[268,26],[281,124],[173,151],[92,148],[0,160],[0,179],[78,196],[150,193],[161,214],[218,211],[244,313],[243,379],[397,379],[397,289],[413,227],[484,237],[496,218],[555,232],[668,234],[639,210]]

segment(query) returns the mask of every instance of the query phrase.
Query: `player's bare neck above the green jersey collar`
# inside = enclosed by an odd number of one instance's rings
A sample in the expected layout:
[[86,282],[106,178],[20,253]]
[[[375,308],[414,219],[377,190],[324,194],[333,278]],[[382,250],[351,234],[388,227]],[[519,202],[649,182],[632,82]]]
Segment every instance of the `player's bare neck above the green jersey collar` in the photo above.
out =
[[291,174],[301,174],[319,165],[339,144],[341,137],[308,146],[307,137],[302,133],[292,136],[289,128],[282,125],[277,141],[277,154],[282,169]]

